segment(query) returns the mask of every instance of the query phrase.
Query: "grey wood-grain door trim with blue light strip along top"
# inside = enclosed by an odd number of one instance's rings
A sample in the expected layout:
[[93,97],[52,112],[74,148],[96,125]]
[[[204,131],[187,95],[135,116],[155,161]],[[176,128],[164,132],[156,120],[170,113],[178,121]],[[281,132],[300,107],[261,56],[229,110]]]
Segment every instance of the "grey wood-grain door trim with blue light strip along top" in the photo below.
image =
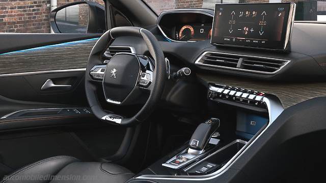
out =
[[93,38],[0,54],[0,76],[84,69],[97,40]]

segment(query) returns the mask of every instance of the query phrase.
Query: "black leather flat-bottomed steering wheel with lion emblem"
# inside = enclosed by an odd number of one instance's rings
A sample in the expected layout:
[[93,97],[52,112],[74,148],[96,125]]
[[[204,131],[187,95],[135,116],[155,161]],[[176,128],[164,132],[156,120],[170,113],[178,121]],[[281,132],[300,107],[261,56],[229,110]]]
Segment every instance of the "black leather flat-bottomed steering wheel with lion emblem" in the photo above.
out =
[[[116,38],[123,36],[143,38],[151,57],[117,53],[110,61],[103,64],[103,53]],[[104,68],[104,74],[98,77],[101,73],[99,71],[103,71]],[[153,111],[161,97],[166,78],[166,60],[155,36],[140,27],[115,27],[99,38],[90,53],[85,76],[87,100],[97,118],[112,124],[135,125],[144,121]],[[127,106],[137,103],[142,95],[146,94],[144,90],[149,92],[149,96],[134,116],[124,117],[102,108],[98,89],[103,90],[106,102],[114,105]]]

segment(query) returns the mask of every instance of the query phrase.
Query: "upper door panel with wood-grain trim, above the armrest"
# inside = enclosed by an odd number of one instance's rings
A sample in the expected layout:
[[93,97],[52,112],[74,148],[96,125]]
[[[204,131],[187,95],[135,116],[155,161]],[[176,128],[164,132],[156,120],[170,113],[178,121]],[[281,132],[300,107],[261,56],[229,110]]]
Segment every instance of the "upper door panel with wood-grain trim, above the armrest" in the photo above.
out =
[[[26,109],[87,107],[85,68],[98,39],[91,37],[99,35],[0,34],[4,43],[12,42],[0,46],[0,117]],[[8,50],[15,51],[4,53]],[[41,90],[48,79],[71,87]]]

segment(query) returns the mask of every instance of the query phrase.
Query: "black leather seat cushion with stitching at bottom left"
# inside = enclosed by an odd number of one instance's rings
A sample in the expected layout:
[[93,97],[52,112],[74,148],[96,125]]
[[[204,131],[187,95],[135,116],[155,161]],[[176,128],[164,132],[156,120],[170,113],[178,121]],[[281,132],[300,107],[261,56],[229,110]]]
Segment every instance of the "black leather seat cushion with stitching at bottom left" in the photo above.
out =
[[10,182],[114,182],[130,179],[134,174],[112,163],[80,162],[69,156],[57,156],[38,161],[16,170],[0,183]]

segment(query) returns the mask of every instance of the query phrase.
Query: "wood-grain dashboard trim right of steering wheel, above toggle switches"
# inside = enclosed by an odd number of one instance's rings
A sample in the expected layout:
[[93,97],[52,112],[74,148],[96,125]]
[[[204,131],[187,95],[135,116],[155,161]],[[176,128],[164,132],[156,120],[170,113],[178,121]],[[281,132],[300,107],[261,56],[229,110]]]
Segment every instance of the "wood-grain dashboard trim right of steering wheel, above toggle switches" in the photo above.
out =
[[197,74],[206,83],[217,83],[257,90],[277,96],[283,107],[288,108],[297,103],[326,96],[326,82],[276,82],[233,77],[218,74]]

